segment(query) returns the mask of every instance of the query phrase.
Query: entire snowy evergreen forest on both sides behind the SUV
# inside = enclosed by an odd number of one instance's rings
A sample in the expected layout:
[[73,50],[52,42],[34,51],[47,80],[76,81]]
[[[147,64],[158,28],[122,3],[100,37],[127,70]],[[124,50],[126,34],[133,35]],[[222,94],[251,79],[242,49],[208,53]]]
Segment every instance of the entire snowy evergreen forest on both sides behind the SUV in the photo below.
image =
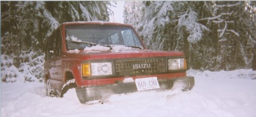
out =
[[[109,1],[1,1],[1,80],[43,82],[46,39],[63,22],[109,21]],[[148,49],[183,51],[188,68],[251,68],[255,1],[126,1]],[[21,74],[20,74],[21,73]]]

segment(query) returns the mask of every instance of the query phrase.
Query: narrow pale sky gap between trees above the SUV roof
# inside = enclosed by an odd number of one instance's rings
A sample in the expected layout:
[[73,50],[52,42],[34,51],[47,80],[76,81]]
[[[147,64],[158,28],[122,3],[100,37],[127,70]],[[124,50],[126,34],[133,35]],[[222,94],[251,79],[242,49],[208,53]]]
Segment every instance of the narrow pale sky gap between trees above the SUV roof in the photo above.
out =
[[[110,16],[110,22],[124,23],[123,11],[125,1],[116,1],[116,7],[111,6],[111,10],[114,12],[114,15]],[[111,4],[115,5],[113,1]]]

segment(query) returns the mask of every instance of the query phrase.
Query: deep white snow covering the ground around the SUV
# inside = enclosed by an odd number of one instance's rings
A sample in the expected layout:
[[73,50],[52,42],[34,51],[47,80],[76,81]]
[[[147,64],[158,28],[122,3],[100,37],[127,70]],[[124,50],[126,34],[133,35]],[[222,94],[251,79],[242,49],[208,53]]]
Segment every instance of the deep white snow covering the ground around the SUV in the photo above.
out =
[[[46,97],[44,83],[1,83],[1,116],[256,116],[256,73],[188,70],[195,87],[188,92],[140,92],[113,95],[104,104]],[[72,96],[74,95],[74,96]]]

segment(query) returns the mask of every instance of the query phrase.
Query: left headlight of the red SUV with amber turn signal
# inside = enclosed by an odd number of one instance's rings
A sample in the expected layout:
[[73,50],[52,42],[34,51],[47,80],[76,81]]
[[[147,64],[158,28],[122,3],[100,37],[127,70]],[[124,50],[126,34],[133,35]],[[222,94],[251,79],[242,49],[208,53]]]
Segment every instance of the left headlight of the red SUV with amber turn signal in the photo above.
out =
[[92,62],[82,64],[82,76],[103,76],[112,75],[112,63],[111,62]]

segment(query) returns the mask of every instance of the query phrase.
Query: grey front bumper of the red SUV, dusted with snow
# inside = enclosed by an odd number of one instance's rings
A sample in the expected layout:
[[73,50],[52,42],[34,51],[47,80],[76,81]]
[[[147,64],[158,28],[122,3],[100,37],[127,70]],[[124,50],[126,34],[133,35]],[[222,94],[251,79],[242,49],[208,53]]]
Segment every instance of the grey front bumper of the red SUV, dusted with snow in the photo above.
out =
[[[194,87],[195,79],[192,76],[185,76],[180,78],[158,79],[158,83],[160,88],[152,90],[164,91],[166,89],[181,88],[182,91],[188,91]],[[175,83],[181,84],[179,85],[180,87],[175,87]],[[134,82],[76,88],[76,94],[81,103],[99,100],[104,101],[113,94],[133,92],[138,92]]]

